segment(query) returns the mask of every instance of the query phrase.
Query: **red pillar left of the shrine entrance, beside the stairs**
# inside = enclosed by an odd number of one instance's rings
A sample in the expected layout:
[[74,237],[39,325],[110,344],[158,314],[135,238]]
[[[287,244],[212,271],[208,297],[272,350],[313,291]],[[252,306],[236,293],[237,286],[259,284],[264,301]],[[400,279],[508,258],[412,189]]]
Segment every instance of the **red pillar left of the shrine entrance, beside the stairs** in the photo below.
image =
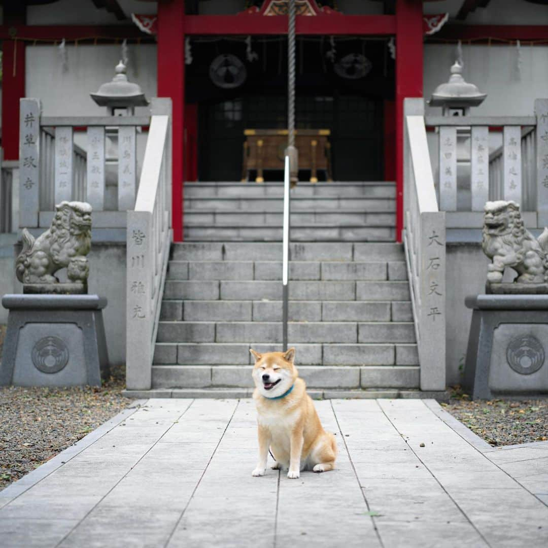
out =
[[173,102],[173,239],[182,241],[185,128],[185,0],[158,2],[158,97]]

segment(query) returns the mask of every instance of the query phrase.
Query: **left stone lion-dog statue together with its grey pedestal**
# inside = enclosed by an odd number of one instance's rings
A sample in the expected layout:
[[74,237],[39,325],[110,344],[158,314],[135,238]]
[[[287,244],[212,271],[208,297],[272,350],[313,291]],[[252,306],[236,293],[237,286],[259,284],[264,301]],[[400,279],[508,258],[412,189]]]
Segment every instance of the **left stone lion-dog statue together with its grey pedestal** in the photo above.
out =
[[[23,295],[4,295],[9,310],[0,386],[101,385],[109,374],[102,309],[87,295],[92,208],[84,202],[55,206],[52,226],[38,238],[22,231],[15,271]],[[67,269],[67,282],[55,273]]]

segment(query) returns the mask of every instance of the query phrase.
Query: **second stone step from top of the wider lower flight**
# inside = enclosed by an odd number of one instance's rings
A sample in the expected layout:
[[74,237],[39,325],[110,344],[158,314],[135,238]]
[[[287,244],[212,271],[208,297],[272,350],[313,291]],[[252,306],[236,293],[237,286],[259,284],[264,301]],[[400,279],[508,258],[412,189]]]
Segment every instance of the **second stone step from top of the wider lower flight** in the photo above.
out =
[[[167,279],[281,281],[282,261],[169,261]],[[406,280],[404,261],[291,261],[290,280]]]

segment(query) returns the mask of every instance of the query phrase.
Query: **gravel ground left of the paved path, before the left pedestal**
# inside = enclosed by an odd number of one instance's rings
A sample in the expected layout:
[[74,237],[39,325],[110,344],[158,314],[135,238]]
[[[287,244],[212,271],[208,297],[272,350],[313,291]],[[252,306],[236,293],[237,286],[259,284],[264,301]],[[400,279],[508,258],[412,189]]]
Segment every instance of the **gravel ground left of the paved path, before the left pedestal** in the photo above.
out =
[[113,373],[101,388],[0,388],[0,490],[128,407]]

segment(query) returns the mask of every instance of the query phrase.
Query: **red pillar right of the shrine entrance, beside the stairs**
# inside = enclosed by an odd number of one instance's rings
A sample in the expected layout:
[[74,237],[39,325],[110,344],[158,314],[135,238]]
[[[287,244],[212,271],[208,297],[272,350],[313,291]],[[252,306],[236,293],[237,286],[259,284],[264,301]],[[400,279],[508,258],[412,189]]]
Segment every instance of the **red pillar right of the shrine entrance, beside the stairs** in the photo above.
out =
[[396,240],[403,230],[403,99],[423,96],[423,2],[396,0]]

